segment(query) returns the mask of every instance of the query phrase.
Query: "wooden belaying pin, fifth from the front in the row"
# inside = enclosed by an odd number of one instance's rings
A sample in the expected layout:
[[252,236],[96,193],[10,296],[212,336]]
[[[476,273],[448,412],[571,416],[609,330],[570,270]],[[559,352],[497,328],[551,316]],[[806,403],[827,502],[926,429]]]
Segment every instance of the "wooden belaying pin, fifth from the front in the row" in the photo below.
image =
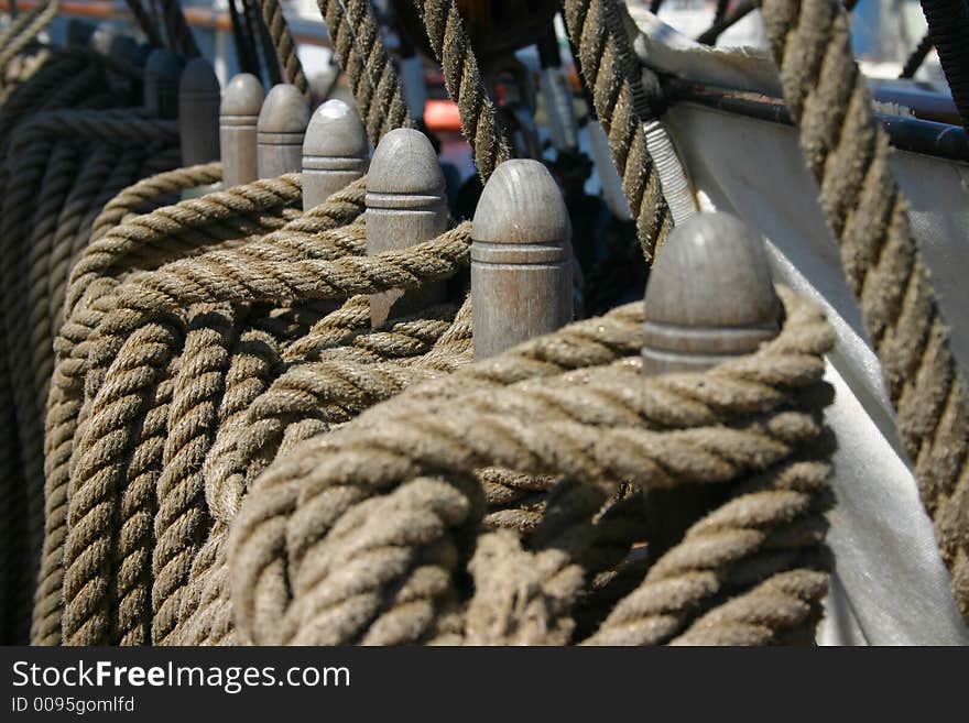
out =
[[260,178],[275,178],[303,168],[303,136],[309,106],[294,85],[273,86],[259,112],[255,164]]

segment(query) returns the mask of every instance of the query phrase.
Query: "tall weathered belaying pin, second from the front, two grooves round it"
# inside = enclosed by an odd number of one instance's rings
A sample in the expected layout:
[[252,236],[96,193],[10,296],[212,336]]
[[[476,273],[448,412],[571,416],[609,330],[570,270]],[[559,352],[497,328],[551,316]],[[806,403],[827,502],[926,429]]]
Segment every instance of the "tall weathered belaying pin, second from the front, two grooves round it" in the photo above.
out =
[[505,161],[471,226],[475,358],[499,354],[571,321],[571,224],[537,161]]

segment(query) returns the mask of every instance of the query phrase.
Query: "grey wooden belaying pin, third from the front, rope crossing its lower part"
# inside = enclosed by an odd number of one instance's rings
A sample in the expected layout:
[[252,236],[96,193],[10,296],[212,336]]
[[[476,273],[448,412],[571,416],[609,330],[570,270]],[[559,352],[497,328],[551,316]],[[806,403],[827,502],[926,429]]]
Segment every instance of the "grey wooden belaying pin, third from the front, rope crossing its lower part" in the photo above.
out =
[[[381,139],[367,174],[367,253],[406,249],[447,230],[444,174],[431,141],[407,128]],[[390,317],[440,300],[444,285],[420,292],[392,289],[370,297],[373,328]]]

